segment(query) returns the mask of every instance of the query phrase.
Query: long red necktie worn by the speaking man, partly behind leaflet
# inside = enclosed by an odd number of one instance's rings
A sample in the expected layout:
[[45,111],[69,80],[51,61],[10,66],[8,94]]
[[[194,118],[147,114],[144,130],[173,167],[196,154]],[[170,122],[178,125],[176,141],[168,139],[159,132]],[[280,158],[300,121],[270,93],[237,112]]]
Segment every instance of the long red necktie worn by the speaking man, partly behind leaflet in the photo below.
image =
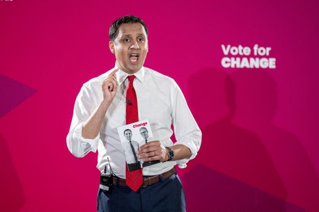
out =
[[[131,124],[139,121],[138,113],[138,100],[136,98],[136,92],[133,87],[133,80],[135,75],[128,76],[129,84],[126,89],[126,124]],[[133,190],[137,191],[143,184],[142,169],[129,171],[128,165],[126,167],[126,184]]]

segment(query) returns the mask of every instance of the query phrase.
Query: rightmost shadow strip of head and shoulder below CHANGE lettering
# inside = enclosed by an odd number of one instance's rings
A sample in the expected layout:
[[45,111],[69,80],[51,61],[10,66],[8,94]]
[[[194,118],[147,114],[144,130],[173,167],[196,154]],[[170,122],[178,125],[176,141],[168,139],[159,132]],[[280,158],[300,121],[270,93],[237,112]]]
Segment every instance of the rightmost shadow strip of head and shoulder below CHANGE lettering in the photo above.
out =
[[273,124],[278,107],[275,80],[268,71],[235,71],[232,77],[237,105],[233,122],[263,141],[285,184],[287,200],[318,212],[319,178],[307,150],[294,134]]

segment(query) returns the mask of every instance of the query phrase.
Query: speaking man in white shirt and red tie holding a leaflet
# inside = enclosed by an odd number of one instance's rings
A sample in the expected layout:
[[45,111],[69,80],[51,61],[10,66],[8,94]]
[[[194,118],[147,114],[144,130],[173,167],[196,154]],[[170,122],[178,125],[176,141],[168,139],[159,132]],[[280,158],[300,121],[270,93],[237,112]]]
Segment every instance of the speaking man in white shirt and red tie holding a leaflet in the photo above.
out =
[[[145,23],[124,16],[111,25],[109,37],[116,66],[83,84],[75,101],[68,148],[77,157],[98,150],[101,173],[110,160],[113,191],[99,190],[98,211],[185,211],[174,165],[184,168],[195,157],[201,132],[175,81],[143,67],[148,53]],[[130,172],[117,128],[145,119],[154,141],[140,146],[138,157],[161,163]],[[170,140],[171,125],[175,143]]]

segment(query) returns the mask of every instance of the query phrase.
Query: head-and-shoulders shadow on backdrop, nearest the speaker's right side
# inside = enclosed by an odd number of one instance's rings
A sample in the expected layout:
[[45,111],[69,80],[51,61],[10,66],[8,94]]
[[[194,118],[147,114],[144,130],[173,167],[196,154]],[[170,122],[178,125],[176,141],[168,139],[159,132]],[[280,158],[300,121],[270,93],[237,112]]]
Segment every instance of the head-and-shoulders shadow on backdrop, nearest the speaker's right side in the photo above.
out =
[[201,165],[189,163],[183,177],[187,210],[285,211],[287,191],[263,142],[232,123],[234,80],[218,69],[201,70],[189,78],[188,92],[203,137]]

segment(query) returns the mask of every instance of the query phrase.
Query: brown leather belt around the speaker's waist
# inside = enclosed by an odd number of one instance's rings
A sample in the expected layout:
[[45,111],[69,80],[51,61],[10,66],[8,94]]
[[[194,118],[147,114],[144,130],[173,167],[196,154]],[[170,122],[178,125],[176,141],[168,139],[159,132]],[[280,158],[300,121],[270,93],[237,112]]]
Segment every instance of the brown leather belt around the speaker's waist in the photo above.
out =
[[[176,173],[176,169],[175,169],[175,167],[173,167],[169,171],[166,171],[166,172],[159,174],[159,175],[148,176],[148,177],[144,176],[143,177],[143,184],[141,187],[147,187],[147,186],[150,186],[154,183],[158,183],[158,182],[160,182],[160,177],[163,180],[165,178],[172,176],[175,173]],[[127,186],[125,179],[118,178],[118,177],[113,177],[113,184],[120,185],[120,186]]]

